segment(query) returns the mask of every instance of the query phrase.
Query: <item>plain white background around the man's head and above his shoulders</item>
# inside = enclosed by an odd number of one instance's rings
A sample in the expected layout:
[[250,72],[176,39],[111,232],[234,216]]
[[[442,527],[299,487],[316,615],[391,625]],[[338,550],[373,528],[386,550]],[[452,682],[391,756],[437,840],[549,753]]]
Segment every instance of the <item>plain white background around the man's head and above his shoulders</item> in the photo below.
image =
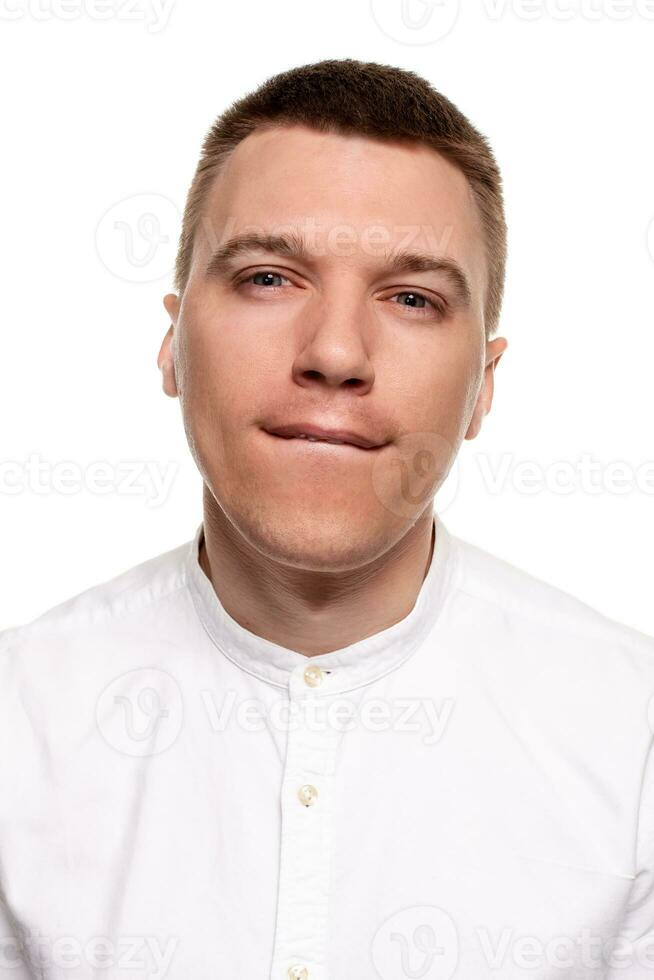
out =
[[[201,480],[156,356],[201,140],[270,75],[354,57],[428,78],[504,176],[509,347],[437,509],[654,634],[654,2],[461,6],[0,0],[0,628],[192,537]],[[109,493],[79,489],[97,461]],[[172,483],[121,491],[130,461]]]

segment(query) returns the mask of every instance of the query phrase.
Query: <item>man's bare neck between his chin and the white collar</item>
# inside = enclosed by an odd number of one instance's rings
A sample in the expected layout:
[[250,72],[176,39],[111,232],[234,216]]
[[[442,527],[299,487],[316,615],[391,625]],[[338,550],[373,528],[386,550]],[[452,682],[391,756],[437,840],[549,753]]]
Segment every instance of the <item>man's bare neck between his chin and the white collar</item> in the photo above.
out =
[[431,507],[381,557],[346,572],[292,567],[253,548],[204,495],[200,566],[232,619],[307,657],[388,629],[413,609],[435,545]]

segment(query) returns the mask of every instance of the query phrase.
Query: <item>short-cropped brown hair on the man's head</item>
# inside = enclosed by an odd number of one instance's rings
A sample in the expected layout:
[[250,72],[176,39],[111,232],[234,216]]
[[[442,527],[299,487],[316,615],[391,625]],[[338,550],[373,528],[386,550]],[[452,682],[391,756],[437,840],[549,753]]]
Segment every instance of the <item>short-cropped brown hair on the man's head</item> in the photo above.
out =
[[193,240],[209,187],[241,140],[271,124],[426,144],[467,178],[485,234],[486,337],[499,322],[507,252],[502,179],[487,139],[456,106],[415,72],[353,58],[319,61],[274,75],[234,102],[204,138],[186,199],[175,287],[188,280]]

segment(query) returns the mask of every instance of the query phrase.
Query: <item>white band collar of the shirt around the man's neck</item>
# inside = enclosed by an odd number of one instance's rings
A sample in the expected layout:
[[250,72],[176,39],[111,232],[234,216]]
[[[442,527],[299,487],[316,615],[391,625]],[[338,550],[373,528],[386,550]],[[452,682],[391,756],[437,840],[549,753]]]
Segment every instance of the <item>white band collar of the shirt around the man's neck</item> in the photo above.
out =
[[200,524],[185,556],[188,582],[197,614],[218,649],[242,670],[288,689],[301,685],[308,666],[324,669],[326,683],[313,694],[336,694],[369,684],[399,667],[418,649],[436,622],[449,592],[455,548],[453,537],[434,513],[432,559],[416,602],[403,619],[387,629],[329,653],[307,657],[250,632],[224,609],[199,563]]

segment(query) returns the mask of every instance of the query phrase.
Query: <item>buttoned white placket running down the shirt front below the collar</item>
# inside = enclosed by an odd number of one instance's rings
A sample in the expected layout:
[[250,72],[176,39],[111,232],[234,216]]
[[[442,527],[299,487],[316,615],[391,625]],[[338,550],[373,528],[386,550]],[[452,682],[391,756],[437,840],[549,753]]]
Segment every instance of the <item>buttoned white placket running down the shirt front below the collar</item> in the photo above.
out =
[[[329,980],[327,930],[332,804],[343,738],[327,713],[333,671],[309,664],[289,678],[289,730],[281,788],[281,849],[271,980]],[[347,712],[347,707],[346,707]]]

